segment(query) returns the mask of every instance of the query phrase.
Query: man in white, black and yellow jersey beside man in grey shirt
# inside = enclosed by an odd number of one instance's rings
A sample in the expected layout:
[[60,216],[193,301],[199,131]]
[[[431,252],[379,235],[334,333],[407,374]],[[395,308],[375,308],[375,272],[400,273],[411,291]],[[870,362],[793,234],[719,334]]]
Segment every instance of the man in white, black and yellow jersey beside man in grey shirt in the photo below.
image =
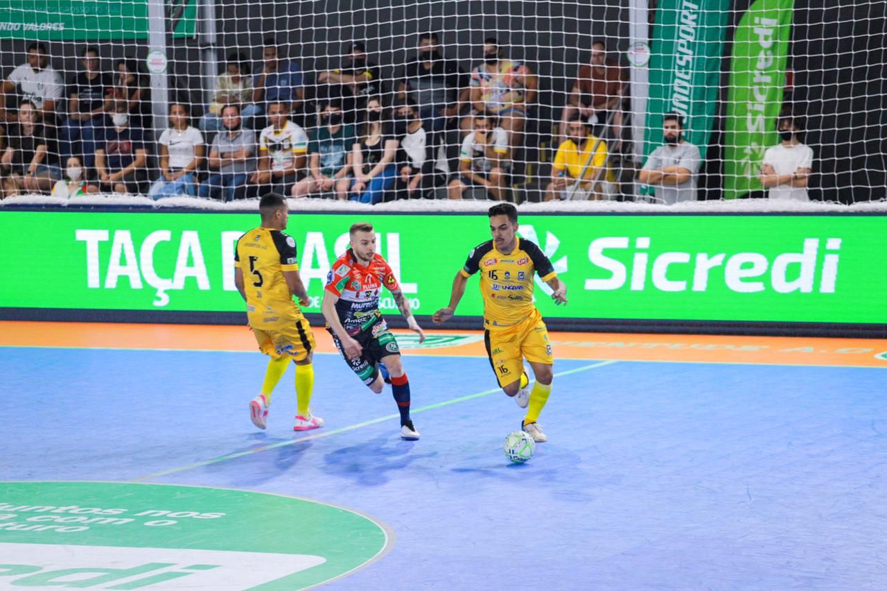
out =
[[259,169],[249,178],[262,193],[288,195],[304,177],[308,134],[289,120],[289,106],[282,101],[268,105],[268,127],[259,135]]

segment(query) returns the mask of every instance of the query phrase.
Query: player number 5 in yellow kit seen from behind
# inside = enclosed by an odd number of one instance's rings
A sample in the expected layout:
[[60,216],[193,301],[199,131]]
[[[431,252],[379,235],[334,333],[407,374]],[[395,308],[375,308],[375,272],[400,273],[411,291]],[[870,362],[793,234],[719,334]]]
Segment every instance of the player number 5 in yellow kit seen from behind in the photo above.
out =
[[234,254],[234,284],[247,302],[249,327],[259,350],[271,357],[262,391],[249,403],[250,418],[256,427],[265,428],[271,392],[292,359],[298,400],[293,430],[317,429],[324,420],[309,409],[314,390],[311,357],[317,343],[308,320],[293,302],[296,296],[303,306],[309,305],[299,278],[295,240],[283,232],[289,216],[287,201],[278,193],[268,193],[259,202],[259,213],[262,225],[240,236]]

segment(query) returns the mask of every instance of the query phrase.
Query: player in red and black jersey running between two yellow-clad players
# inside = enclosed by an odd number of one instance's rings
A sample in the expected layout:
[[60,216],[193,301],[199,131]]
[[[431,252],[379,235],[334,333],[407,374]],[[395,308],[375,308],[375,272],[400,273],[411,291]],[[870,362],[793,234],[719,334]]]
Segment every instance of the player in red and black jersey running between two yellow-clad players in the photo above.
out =
[[339,257],[326,277],[321,305],[326,329],[357,377],[376,394],[381,393],[385,382],[380,371],[380,364],[384,364],[400,412],[400,436],[415,440],[420,436],[410,419],[410,382],[404,373],[397,341],[379,311],[382,287],[391,292],[408,326],[419,334],[420,343],[425,340],[425,333],[413,318],[410,303],[391,267],[376,254],[373,225],[352,225],[349,236],[351,248]]

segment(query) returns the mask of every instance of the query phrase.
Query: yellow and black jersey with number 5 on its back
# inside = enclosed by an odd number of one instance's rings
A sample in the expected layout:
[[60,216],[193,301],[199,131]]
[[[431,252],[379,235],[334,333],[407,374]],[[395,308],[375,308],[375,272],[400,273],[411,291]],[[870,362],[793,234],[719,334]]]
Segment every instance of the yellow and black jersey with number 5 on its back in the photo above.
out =
[[243,272],[247,314],[251,326],[293,318],[302,311],[295,305],[284,271],[298,271],[295,240],[279,230],[255,228],[237,240],[234,266]]

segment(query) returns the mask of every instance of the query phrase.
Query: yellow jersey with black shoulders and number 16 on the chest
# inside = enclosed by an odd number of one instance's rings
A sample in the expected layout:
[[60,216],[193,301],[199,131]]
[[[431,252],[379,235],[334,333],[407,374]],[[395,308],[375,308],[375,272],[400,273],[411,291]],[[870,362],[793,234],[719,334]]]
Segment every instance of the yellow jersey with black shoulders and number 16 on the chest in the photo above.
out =
[[513,327],[536,312],[533,305],[533,273],[543,281],[557,277],[548,257],[530,240],[516,239],[514,250],[503,255],[493,240],[479,244],[468,254],[464,277],[481,272],[483,327]]

